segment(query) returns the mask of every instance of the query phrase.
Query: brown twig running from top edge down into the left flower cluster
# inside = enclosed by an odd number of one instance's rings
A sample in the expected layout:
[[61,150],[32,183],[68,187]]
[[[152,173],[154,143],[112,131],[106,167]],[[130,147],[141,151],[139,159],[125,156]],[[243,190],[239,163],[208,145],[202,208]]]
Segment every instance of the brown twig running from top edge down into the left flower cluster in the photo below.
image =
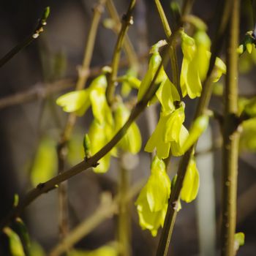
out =
[[106,97],[108,101],[108,105],[112,105],[114,93],[115,93],[115,83],[116,83],[116,77],[118,72],[118,66],[119,66],[119,60],[121,56],[121,48],[124,44],[124,36],[127,34],[127,31],[129,29],[129,26],[133,24],[132,20],[132,12],[135,8],[136,0],[131,0],[127,13],[122,18],[122,25],[121,30],[118,33],[118,39],[116,42],[116,47],[113,53],[113,59],[111,63],[111,72],[108,75],[108,86],[106,89]]

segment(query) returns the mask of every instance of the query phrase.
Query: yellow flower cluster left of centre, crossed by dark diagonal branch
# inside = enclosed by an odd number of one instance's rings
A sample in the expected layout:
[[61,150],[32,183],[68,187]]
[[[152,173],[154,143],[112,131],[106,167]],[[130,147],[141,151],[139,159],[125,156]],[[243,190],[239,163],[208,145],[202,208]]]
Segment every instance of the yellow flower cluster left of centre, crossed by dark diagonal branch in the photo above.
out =
[[[129,109],[121,101],[118,102],[113,115],[105,96],[106,87],[107,79],[105,75],[99,75],[99,77],[92,81],[88,89],[69,92],[59,97],[56,101],[64,111],[75,112],[78,116],[83,116],[91,106],[94,121],[92,121],[88,133],[90,148],[86,148],[91,154],[97,153],[97,151],[105,146],[129,117]],[[133,123],[128,129],[127,135],[122,138],[117,147],[136,154],[140,151],[140,146],[140,130]],[[105,157],[99,159],[99,165],[94,167],[94,171],[105,173],[110,166],[110,157],[116,157],[116,155],[117,148],[113,148]]]

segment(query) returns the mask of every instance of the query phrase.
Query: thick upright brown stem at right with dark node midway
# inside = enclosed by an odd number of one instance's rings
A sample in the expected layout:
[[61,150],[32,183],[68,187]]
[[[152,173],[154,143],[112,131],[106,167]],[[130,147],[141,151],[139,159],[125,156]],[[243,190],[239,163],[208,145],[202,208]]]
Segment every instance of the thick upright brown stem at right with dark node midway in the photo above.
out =
[[227,34],[227,75],[222,148],[222,256],[235,255],[236,193],[238,175],[238,34],[240,1],[233,1]]

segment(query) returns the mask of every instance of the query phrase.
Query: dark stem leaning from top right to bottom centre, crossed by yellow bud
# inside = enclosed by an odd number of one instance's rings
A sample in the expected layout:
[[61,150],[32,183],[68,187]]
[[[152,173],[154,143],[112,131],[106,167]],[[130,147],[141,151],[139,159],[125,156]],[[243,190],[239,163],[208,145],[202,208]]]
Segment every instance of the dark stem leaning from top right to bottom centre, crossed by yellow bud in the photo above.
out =
[[[185,2],[183,10],[186,10],[186,12],[182,12],[182,16],[186,15],[187,12],[189,12],[190,10],[189,7],[192,7],[191,4],[192,4],[191,1]],[[209,64],[206,80],[203,83],[203,91],[199,99],[199,102],[197,104],[194,120],[198,116],[201,116],[203,111],[206,110],[206,108],[208,107],[208,102],[210,100],[211,91],[212,91],[211,72],[214,69],[214,64],[215,64],[217,55],[219,54],[219,51],[221,48],[220,45],[222,45],[231,7],[232,7],[232,1],[227,0],[224,2],[224,6],[222,7],[222,12],[219,12],[221,14],[219,16],[219,24],[218,24],[219,26],[217,27],[217,34],[212,45],[210,64]],[[167,255],[169,244],[170,244],[170,238],[173,233],[173,227],[176,221],[176,215],[177,215],[176,206],[178,204],[178,200],[180,197],[182,184],[187,171],[187,166],[189,164],[189,159],[192,156],[193,151],[194,151],[194,146],[189,148],[189,150],[184,154],[184,157],[182,157],[181,162],[179,163],[176,184],[173,187],[172,192],[170,194],[167,214],[165,217],[165,224],[161,233],[161,237],[160,237],[160,241],[157,249],[158,256]]]

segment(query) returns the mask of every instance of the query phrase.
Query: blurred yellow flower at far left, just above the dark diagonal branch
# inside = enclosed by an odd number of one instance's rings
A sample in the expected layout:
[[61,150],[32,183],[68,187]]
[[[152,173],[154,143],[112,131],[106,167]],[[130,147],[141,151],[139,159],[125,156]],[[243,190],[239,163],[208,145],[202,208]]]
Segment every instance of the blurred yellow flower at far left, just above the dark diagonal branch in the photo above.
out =
[[40,182],[47,181],[56,173],[57,154],[56,142],[45,136],[41,139],[31,168],[31,184],[37,186]]

